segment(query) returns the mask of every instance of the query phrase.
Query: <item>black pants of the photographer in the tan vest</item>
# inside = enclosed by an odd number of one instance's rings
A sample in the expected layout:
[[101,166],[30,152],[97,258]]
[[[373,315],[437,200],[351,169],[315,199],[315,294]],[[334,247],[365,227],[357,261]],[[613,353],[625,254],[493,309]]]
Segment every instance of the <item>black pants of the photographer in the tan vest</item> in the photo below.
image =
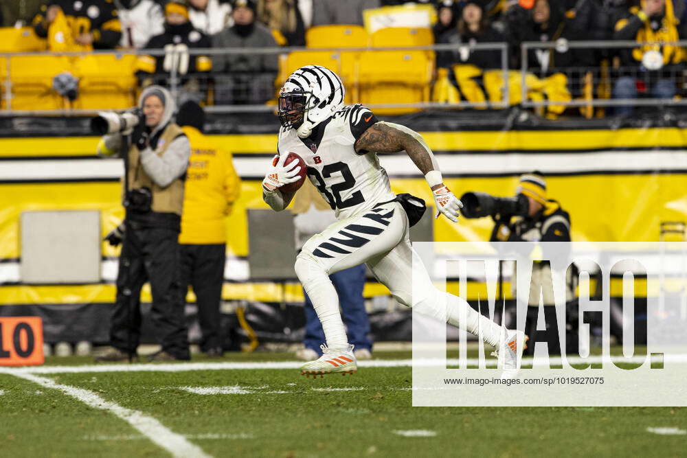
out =
[[150,281],[153,293],[150,317],[162,350],[179,359],[190,359],[177,238],[178,230],[134,229],[127,223],[110,329],[113,347],[124,352],[136,351],[141,334],[141,288]]

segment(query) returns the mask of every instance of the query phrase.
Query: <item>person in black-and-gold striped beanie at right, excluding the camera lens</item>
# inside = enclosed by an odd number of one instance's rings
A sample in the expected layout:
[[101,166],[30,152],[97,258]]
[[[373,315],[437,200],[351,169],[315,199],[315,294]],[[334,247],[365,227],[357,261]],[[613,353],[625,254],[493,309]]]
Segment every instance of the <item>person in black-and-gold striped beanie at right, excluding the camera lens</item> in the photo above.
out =
[[[512,216],[499,215],[493,216],[495,225],[491,233],[491,242],[570,242],[570,216],[561,205],[547,198],[546,181],[539,172],[524,174],[520,177],[520,182],[516,190],[518,198],[525,196],[528,201],[526,215]],[[543,253],[546,256],[546,253]],[[546,259],[546,257],[544,257]],[[525,324],[525,332],[530,336],[530,345],[525,350],[525,354],[534,354],[534,344],[537,340],[548,342],[549,354],[561,354],[561,346],[554,336],[555,334],[540,334],[537,331],[537,319],[539,316],[540,291],[543,292],[542,299],[544,305],[544,317],[547,328],[552,328],[552,319],[555,309],[549,307],[554,305],[554,298],[550,294],[553,291],[550,285],[554,273],[548,261],[534,261],[532,266],[532,280],[528,299],[528,313]],[[515,274],[511,280],[516,282]],[[565,273],[566,302],[575,300],[576,271],[574,268]],[[551,322],[550,322],[551,321]],[[574,329],[575,323],[569,323]],[[544,338],[546,337],[546,339]],[[539,338],[539,339],[538,339]],[[576,339],[569,341],[566,345],[567,352],[576,351]]]

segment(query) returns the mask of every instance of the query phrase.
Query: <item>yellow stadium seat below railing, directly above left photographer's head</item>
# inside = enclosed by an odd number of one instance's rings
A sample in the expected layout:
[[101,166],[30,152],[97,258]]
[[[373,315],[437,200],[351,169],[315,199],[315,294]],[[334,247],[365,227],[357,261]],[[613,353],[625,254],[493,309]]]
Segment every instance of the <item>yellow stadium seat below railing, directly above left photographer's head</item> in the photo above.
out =
[[79,96],[74,108],[117,109],[135,105],[135,54],[93,54],[75,59]]

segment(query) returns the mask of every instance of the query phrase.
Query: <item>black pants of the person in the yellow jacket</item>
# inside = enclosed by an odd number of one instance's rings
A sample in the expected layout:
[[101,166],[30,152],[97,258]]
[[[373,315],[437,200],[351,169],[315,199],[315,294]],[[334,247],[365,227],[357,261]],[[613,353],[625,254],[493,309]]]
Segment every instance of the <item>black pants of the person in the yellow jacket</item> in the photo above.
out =
[[181,245],[181,288],[185,291],[191,285],[196,295],[203,352],[222,348],[219,306],[226,258],[225,244]]

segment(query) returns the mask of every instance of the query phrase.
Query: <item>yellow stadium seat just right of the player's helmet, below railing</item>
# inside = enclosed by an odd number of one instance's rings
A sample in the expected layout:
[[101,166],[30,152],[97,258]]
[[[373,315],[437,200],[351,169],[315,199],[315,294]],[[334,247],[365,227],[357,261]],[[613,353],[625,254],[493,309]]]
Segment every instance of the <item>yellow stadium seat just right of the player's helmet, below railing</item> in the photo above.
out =
[[[433,56],[425,51],[368,51],[360,56],[360,102],[408,104],[429,102]],[[421,108],[373,108],[381,115],[413,113]]]

